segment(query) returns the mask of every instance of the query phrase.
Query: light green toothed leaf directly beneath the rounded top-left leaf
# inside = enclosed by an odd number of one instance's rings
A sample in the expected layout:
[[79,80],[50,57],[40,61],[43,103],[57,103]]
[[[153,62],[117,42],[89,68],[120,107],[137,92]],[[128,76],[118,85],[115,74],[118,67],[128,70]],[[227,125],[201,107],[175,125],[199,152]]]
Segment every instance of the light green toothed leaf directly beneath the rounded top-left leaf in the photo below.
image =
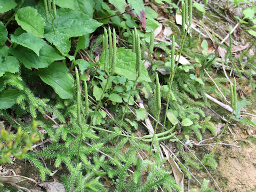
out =
[[11,41],[34,51],[39,56],[39,51],[44,46],[44,40],[30,33],[22,33],[19,36],[11,35]]

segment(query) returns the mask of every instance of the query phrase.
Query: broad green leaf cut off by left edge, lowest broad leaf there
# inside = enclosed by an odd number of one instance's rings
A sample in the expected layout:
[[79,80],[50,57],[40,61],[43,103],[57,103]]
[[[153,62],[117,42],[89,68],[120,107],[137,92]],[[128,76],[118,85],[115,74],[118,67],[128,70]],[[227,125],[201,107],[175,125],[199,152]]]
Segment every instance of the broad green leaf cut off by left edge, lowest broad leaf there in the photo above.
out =
[[19,91],[13,89],[0,92],[0,109],[11,108],[15,104],[18,96]]

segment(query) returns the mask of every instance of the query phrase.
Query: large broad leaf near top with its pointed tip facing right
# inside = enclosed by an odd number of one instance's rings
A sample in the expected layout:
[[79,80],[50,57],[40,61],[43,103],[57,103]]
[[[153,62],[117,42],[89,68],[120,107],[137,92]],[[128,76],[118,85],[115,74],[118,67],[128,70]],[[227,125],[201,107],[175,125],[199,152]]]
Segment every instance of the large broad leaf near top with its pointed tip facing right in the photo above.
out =
[[[56,31],[70,37],[78,37],[94,32],[102,23],[89,18],[87,15],[70,9],[61,8],[57,10],[57,18],[53,25]],[[47,23],[45,37],[51,39],[54,36],[52,26]]]

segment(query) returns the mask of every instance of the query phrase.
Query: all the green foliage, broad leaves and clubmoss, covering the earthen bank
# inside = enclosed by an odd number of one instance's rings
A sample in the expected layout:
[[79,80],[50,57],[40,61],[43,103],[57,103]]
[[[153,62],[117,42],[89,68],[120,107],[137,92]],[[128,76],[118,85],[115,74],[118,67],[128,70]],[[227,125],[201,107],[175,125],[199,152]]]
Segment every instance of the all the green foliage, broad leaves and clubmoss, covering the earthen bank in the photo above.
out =
[[[0,12],[4,16],[0,22],[0,116],[14,129],[12,134],[5,129],[1,131],[0,162],[11,162],[12,155],[26,158],[45,180],[51,171],[39,158],[51,159],[55,167],[67,167],[68,174],[62,178],[67,191],[108,191],[102,183],[103,177],[112,180],[115,191],[181,190],[165,167],[161,141],[175,141],[176,155],[183,159],[183,164],[178,164],[191,179],[187,167],[199,170],[201,165],[193,154],[185,152],[177,139],[189,141],[194,139],[191,136],[194,134],[197,140],[202,140],[206,129],[216,135],[211,117],[205,117],[202,108],[210,106],[206,93],[222,97],[202,70],[215,66],[217,55],[206,53],[209,47],[206,41],[201,44],[202,53],[190,50],[196,45],[192,42],[194,39],[189,36],[187,41],[193,1],[181,3],[182,34],[181,38],[175,38],[177,34],[173,33],[171,49],[165,42],[155,44],[158,14],[148,5],[144,6],[142,0],[127,1],[127,5],[135,9],[131,13],[123,13],[126,3],[120,0],[77,0],[76,3],[44,0],[38,5],[26,2],[22,7],[23,2],[17,5],[12,0],[0,0]],[[155,1],[163,2],[179,9],[171,1]],[[207,1],[204,3],[204,7],[194,3],[203,14]],[[254,21],[253,9],[243,12],[245,17],[241,23]],[[100,28],[109,21],[113,29],[105,28],[107,25]],[[143,33],[137,30],[140,28]],[[90,35],[94,31],[95,35]],[[253,30],[249,33],[254,35]],[[254,85],[255,56],[248,57],[243,64],[242,56],[248,55],[244,51],[241,58],[234,59],[231,40],[230,37],[229,46],[216,41],[227,50],[223,63],[227,64],[229,59],[235,73],[239,77],[246,74]],[[101,42],[102,55],[94,62],[101,54]],[[178,50],[175,43],[179,43]],[[153,54],[154,48],[157,54]],[[180,66],[183,52],[195,60]],[[163,61],[156,61],[160,54]],[[148,70],[144,65],[146,61],[151,64]],[[161,70],[170,75],[165,76]],[[225,87],[226,78],[217,77],[214,81],[225,96],[231,93],[231,107],[235,111],[232,118],[255,125],[255,121],[240,118],[241,108],[250,103],[236,101],[235,79],[230,91]],[[142,92],[146,100],[140,98]],[[135,101],[147,102],[148,108],[138,108]],[[165,111],[164,118],[161,110]],[[134,111],[136,117],[132,116]],[[134,137],[135,130],[142,134],[139,121],[150,117],[149,112],[156,118],[154,135]],[[31,116],[33,122],[23,122],[24,115]],[[162,132],[158,127],[160,123],[163,123]],[[45,130],[44,135],[39,127]],[[33,151],[31,146],[39,137],[49,137],[52,143],[45,149]],[[148,159],[145,159],[145,150],[149,150]],[[145,156],[141,156],[141,151]],[[212,153],[205,155],[202,163],[216,169]],[[200,191],[211,191],[207,189],[208,183],[204,180]]]

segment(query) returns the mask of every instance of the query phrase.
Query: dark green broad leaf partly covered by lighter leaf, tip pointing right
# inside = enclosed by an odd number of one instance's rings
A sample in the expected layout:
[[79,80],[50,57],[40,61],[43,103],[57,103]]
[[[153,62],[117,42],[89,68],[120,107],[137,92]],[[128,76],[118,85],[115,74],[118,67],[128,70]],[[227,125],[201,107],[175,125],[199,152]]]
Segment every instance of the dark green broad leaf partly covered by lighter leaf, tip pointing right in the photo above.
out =
[[20,45],[15,48],[11,48],[10,52],[12,55],[17,57],[20,62],[23,63],[23,65],[28,69],[45,68],[51,65],[53,61],[65,59],[59,55],[51,45],[48,45],[47,43],[44,43],[44,46],[39,51],[39,57],[35,54],[35,52]]

